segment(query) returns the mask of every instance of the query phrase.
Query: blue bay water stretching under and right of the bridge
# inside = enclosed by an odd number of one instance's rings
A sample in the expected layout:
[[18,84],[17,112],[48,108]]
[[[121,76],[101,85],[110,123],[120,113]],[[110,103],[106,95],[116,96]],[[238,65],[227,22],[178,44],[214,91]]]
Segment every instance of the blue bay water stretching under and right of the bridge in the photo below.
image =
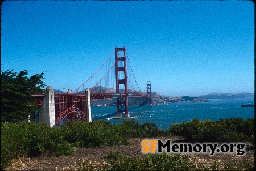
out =
[[[154,106],[129,106],[130,116],[139,124],[156,123],[159,128],[168,129],[174,123],[191,119],[254,118],[254,108],[241,108],[241,104],[254,104],[254,98],[210,99],[208,102],[177,102]],[[104,119],[112,124],[121,124],[125,119],[109,119],[115,115],[115,106],[92,107],[92,119]],[[158,119],[156,121],[156,119]]]

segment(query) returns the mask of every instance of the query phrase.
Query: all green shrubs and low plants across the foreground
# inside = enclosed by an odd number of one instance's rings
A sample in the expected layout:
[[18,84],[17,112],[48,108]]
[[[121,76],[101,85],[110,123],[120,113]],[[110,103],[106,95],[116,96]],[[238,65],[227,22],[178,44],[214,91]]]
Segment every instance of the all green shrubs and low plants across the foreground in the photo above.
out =
[[[80,147],[129,145],[129,138],[168,135],[183,136],[191,142],[250,142],[254,146],[254,119],[231,118],[216,122],[193,119],[187,123],[174,124],[169,130],[156,128],[154,123],[139,125],[134,120],[125,121],[122,125],[110,125],[102,120],[72,121],[66,122],[61,128],[50,128],[36,122],[1,123],[1,167],[11,164],[11,159],[32,157],[43,152],[54,156],[72,155]],[[146,155],[141,159],[119,160],[121,155],[113,152],[107,158],[114,159],[109,160],[109,166],[105,168],[107,170],[158,170],[159,167],[164,170],[170,166],[181,170],[194,169],[187,158],[179,155]],[[140,166],[136,163],[140,163]],[[150,165],[146,165],[148,163]],[[246,162],[245,165],[246,168],[251,166]],[[80,162],[81,170],[88,167],[94,166],[86,161]]]

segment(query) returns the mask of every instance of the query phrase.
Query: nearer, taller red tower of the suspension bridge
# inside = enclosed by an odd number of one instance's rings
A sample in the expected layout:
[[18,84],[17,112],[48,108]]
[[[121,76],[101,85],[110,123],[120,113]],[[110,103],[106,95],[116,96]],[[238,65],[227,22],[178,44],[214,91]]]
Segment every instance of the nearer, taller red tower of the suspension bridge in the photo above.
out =
[[[123,57],[118,57],[118,52],[123,52]],[[126,117],[129,118],[128,112],[128,89],[127,89],[127,72],[126,72],[126,51],[125,46],[123,48],[115,47],[115,83],[116,83],[116,93],[119,93],[119,85],[123,84],[125,87],[125,97],[117,98],[117,113],[115,117]],[[122,62],[124,65],[122,66]],[[123,116],[123,113],[125,115]]]

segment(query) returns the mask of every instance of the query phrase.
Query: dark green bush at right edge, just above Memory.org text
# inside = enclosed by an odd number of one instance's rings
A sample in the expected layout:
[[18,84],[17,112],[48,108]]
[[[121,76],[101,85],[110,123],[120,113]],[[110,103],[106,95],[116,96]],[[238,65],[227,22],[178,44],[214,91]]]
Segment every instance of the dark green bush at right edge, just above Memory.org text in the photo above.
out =
[[176,123],[170,127],[173,135],[184,136],[191,142],[248,142],[254,144],[254,119],[230,118],[218,121]]

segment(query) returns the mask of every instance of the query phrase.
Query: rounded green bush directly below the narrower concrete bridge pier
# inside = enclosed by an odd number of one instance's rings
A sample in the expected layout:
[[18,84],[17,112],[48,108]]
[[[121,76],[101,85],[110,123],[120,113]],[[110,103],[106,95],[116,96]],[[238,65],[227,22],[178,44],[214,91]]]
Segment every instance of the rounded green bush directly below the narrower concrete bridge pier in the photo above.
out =
[[79,147],[100,147],[127,144],[119,126],[107,121],[77,122],[69,121],[61,127],[65,139]]

